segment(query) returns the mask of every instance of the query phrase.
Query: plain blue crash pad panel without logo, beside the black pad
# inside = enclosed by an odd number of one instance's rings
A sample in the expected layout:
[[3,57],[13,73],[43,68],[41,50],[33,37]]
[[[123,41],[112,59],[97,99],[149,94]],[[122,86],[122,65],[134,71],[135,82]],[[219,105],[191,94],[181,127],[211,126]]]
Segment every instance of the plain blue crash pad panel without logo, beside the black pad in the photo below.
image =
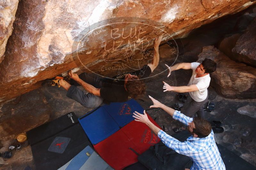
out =
[[78,120],[94,145],[119,130],[118,124],[104,107],[98,107]]

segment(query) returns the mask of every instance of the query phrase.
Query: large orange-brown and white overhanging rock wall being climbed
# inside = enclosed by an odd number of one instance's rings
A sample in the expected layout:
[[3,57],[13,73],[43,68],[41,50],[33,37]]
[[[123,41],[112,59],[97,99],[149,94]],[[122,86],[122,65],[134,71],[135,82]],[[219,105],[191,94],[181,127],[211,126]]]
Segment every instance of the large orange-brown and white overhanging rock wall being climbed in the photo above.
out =
[[[102,71],[102,66],[120,69],[125,66],[123,72],[138,69],[150,60],[151,55],[147,57],[144,52],[157,35],[164,33],[164,40],[183,36],[255,3],[250,0],[20,1],[5,59],[0,64],[0,102],[36,89],[40,81],[75,67],[80,71],[86,67],[101,75],[118,74],[109,73],[108,69]],[[79,38],[83,45],[74,48],[74,44],[79,45]],[[72,56],[76,50],[79,58]],[[141,55],[135,57],[138,53]]]

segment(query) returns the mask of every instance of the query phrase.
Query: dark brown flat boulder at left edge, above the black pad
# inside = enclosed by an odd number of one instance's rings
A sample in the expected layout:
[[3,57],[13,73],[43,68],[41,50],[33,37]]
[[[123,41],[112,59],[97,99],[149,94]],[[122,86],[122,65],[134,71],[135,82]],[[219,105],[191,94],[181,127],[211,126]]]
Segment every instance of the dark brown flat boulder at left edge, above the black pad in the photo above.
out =
[[26,132],[50,119],[51,108],[39,90],[19,96],[0,109],[0,138]]

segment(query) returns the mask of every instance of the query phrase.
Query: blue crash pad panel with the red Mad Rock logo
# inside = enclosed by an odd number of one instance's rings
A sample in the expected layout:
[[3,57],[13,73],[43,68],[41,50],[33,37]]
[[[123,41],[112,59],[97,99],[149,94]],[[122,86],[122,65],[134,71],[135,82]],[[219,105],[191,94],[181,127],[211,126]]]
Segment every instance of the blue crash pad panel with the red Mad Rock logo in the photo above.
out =
[[132,122],[134,118],[132,113],[137,111],[143,113],[144,109],[135,100],[131,99],[123,103],[105,104],[104,107],[108,113],[113,117],[119,127],[124,127],[126,124]]

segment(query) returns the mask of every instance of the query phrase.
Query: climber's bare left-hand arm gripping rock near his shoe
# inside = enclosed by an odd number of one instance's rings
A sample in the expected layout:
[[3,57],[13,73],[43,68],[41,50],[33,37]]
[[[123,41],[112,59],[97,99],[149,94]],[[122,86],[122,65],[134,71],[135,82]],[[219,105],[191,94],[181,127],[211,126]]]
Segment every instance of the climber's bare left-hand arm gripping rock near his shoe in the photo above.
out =
[[88,83],[84,82],[83,80],[81,80],[77,74],[72,73],[72,70],[69,71],[68,75],[70,76],[70,78],[75,80],[78,84],[80,84],[89,93],[92,93],[95,96],[100,96],[100,89],[97,89],[94,86],[92,86],[91,84],[88,84]]

